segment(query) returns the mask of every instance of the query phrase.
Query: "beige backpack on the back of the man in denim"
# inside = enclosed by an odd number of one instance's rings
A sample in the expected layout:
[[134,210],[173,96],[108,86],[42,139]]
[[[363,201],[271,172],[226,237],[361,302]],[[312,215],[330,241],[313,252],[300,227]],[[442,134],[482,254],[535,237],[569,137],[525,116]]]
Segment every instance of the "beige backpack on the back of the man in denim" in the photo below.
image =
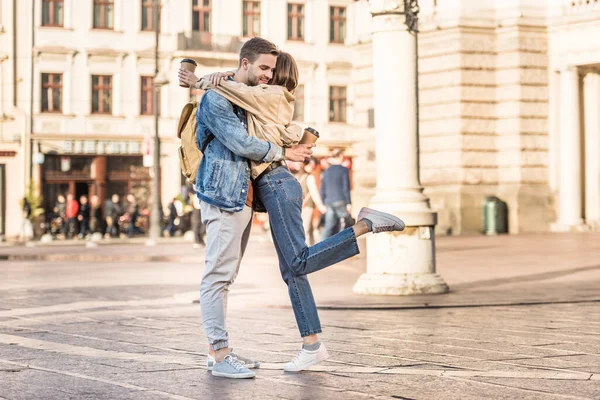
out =
[[190,101],[187,103],[183,107],[183,110],[181,110],[181,116],[179,117],[179,124],[177,126],[177,137],[181,140],[181,146],[179,146],[179,164],[181,165],[181,173],[191,184],[196,183],[196,175],[198,174],[202,153],[214,138],[213,135],[210,135],[204,148],[202,150],[198,148],[196,144],[196,127],[198,125],[196,123],[197,111],[197,101]]

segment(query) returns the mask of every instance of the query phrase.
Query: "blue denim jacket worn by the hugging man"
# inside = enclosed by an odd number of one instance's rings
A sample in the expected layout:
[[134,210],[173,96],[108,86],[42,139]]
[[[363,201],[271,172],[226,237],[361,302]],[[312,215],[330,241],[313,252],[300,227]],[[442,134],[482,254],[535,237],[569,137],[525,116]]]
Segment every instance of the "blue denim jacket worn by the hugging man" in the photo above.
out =
[[250,183],[248,160],[279,161],[283,159],[283,149],[248,136],[244,121],[236,115],[234,106],[213,90],[202,96],[196,121],[198,148],[203,148],[211,134],[214,135],[198,167],[198,197],[225,211],[241,211]]

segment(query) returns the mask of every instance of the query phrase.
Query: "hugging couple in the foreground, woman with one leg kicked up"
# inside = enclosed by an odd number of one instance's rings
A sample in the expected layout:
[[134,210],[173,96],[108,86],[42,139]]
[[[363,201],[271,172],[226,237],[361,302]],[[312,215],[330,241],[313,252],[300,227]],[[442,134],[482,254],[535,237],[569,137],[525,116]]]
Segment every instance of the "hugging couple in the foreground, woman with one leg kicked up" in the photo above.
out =
[[357,237],[401,231],[404,222],[363,208],[354,226],[314,246],[306,245],[302,188],[284,160],[304,161],[314,144],[298,144],[302,128],[291,124],[298,67],[290,54],[273,43],[262,38],[247,41],[235,72],[198,79],[180,69],[179,80],[206,90],[196,116],[196,142],[198,148],[205,148],[196,191],[206,225],[200,305],[209,342],[208,369],[214,376],[253,378],[250,369],[260,365],[229,347],[225,315],[229,286],[248,244],[253,209],[263,206],[303,342],[284,370],[301,371],[327,359],[307,275],[358,254]]

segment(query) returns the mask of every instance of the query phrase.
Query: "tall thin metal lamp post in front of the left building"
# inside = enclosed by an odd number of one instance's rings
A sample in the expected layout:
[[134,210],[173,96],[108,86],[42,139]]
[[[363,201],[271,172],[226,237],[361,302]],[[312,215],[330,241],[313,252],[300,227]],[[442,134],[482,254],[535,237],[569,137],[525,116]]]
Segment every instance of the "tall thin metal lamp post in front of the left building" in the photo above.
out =
[[154,44],[154,81],[152,95],[152,109],[154,111],[154,151],[152,154],[152,211],[150,213],[150,242],[156,243],[161,234],[161,199],[160,199],[160,139],[158,136],[158,44],[159,44],[159,0],[154,0],[153,26],[155,35]]

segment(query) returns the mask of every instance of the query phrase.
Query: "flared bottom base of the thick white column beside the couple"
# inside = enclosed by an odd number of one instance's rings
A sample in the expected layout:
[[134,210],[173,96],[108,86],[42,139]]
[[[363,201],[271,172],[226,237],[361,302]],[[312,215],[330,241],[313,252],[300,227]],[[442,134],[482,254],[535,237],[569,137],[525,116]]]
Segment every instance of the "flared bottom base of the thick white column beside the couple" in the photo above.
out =
[[437,273],[365,273],[352,289],[357,294],[410,296],[448,293],[448,285]]

